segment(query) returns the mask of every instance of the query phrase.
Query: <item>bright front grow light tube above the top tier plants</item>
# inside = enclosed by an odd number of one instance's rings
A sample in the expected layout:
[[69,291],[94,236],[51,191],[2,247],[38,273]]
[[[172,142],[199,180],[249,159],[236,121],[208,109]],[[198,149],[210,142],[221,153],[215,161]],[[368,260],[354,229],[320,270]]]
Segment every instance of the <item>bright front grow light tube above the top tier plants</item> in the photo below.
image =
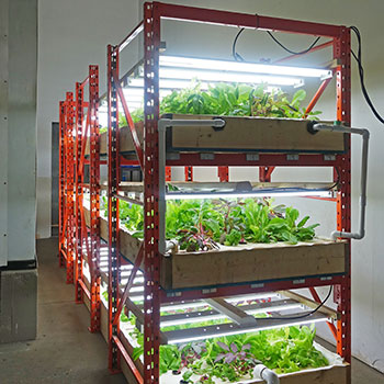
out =
[[332,71],[321,68],[291,67],[268,64],[239,63],[217,59],[203,59],[179,56],[160,56],[160,67],[217,70],[235,74],[263,74],[279,76],[298,76],[312,78],[327,78]]

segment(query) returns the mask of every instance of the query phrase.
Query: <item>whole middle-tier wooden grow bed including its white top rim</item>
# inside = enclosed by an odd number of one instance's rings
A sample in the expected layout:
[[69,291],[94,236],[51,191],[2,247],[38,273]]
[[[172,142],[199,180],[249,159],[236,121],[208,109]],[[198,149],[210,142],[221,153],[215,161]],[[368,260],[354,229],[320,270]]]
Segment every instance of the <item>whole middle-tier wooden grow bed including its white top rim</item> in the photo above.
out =
[[[89,211],[84,210],[89,226]],[[105,217],[101,217],[100,231],[101,237],[108,240]],[[121,253],[134,262],[142,241],[125,228],[120,229],[118,236]],[[325,239],[297,245],[248,244],[207,252],[180,251],[162,257],[160,281],[165,290],[178,290],[342,274],[347,256],[346,241]]]

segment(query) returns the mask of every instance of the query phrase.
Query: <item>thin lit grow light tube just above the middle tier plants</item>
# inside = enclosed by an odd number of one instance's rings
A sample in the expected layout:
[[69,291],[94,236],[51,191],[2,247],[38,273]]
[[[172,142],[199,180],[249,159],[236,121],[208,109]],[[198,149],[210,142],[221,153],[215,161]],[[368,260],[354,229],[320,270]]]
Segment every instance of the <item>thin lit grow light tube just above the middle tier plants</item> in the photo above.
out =
[[187,193],[171,192],[166,194],[166,200],[200,200],[200,199],[238,199],[238,197],[263,197],[263,196],[318,196],[332,197],[332,191],[252,191],[252,192],[205,192],[205,193]]

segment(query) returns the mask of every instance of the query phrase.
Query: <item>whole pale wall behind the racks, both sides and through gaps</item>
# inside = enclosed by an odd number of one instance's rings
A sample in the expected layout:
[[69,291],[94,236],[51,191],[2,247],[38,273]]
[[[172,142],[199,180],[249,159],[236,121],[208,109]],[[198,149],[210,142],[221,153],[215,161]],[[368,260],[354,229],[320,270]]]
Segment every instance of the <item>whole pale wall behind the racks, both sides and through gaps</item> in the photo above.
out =
[[[190,0],[165,1],[195,7],[211,7],[239,12],[259,13],[271,16],[307,20],[315,22],[358,25],[363,36],[363,58],[366,86],[377,108],[384,114],[383,64],[381,24],[384,14],[382,0]],[[65,90],[74,86],[76,79],[84,77],[90,63],[105,63],[105,45],[117,42],[136,24],[139,12],[138,1],[58,1],[41,0],[39,7],[39,92],[38,92],[38,217],[37,231],[49,236],[50,192],[50,122],[58,118],[58,101]],[[86,5],[91,5],[87,9]],[[75,15],[74,15],[75,12]],[[70,15],[70,16],[69,16]],[[167,22],[163,37],[169,54],[190,54],[211,57],[230,57],[231,42],[236,34],[234,29],[207,27],[201,24],[185,25]],[[309,37],[280,35],[282,42],[292,49],[303,49],[312,42]],[[355,47],[355,39],[353,38]],[[238,44],[238,49],[250,60],[261,57],[285,56],[262,32],[247,31]],[[319,56],[314,56],[314,60]],[[308,58],[308,63],[310,59]],[[102,70],[101,70],[102,72]],[[352,329],[353,353],[369,364],[384,372],[384,255],[380,244],[384,217],[383,150],[384,129],[374,120],[363,100],[357,67],[353,64],[352,81],[352,124],[366,126],[372,132],[369,172],[369,206],[366,237],[353,242],[352,252]],[[105,77],[101,78],[103,83]],[[319,104],[327,118],[335,117],[334,92],[329,89]],[[352,228],[358,218],[359,159],[360,142],[353,139],[352,159]],[[206,178],[206,172],[201,173]],[[244,176],[245,177],[245,176]],[[301,178],[326,177],[308,171]],[[292,178],[289,170],[278,170],[275,180]],[[319,206],[317,203],[296,202],[302,211],[309,212],[315,221],[323,224],[324,233],[335,226],[332,206]],[[325,331],[320,330],[327,337]],[[328,335],[329,336],[329,335]]]

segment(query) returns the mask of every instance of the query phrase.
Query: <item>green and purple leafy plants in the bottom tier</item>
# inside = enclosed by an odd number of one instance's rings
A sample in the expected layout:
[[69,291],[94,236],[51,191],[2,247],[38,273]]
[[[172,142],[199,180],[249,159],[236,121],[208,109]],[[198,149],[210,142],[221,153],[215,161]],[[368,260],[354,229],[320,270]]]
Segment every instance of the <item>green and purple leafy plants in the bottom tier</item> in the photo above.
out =
[[[163,329],[162,329],[163,330]],[[143,335],[135,330],[143,345]],[[160,373],[181,372],[187,383],[238,382],[252,379],[253,368],[262,363],[276,373],[297,372],[328,365],[327,359],[314,347],[315,328],[285,327],[242,334],[180,346],[160,347]],[[143,347],[134,351],[135,359]],[[193,375],[200,379],[191,380]]]

